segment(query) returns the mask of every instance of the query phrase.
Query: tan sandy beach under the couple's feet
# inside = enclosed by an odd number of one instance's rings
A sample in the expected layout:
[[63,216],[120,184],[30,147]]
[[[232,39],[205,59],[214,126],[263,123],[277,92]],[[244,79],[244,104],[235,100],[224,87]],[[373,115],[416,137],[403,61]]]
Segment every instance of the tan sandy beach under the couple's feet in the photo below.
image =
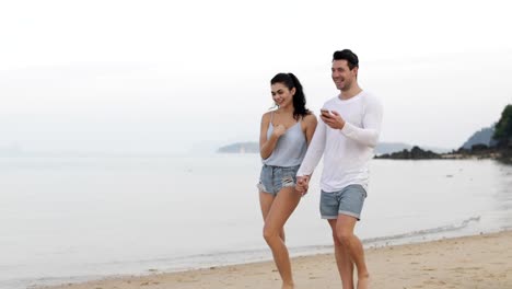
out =
[[[512,288],[512,231],[365,250],[372,287]],[[292,259],[296,288],[340,288],[333,254]],[[182,273],[153,271],[51,289],[280,288],[274,263],[210,267]]]

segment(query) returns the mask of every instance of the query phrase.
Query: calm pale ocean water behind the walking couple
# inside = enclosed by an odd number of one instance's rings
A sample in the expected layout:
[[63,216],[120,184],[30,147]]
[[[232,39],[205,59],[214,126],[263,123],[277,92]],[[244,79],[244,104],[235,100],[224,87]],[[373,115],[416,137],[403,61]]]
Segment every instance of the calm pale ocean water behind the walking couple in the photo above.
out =
[[[0,288],[271,259],[257,154],[0,158]],[[292,255],[330,252],[318,178],[287,223]],[[512,229],[512,166],[371,162],[357,234],[381,246]]]

